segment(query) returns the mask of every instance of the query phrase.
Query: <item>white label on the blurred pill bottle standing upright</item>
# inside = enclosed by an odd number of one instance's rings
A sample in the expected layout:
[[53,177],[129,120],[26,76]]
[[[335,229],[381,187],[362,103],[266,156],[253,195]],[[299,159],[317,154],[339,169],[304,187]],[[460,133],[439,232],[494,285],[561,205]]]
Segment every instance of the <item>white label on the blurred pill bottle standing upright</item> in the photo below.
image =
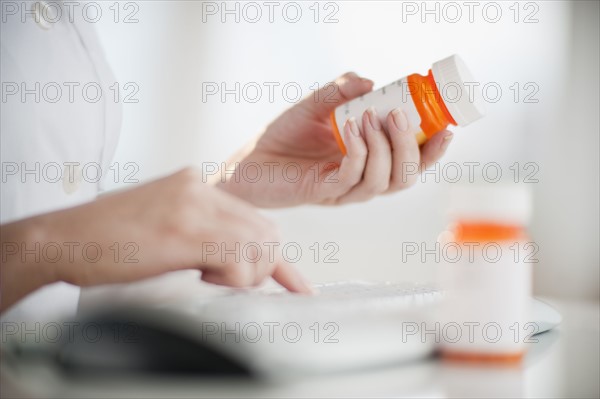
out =
[[460,260],[441,265],[445,298],[436,326],[441,347],[518,353],[538,328],[531,323],[531,265],[514,259],[513,250],[522,243],[470,244],[481,245],[461,245]]

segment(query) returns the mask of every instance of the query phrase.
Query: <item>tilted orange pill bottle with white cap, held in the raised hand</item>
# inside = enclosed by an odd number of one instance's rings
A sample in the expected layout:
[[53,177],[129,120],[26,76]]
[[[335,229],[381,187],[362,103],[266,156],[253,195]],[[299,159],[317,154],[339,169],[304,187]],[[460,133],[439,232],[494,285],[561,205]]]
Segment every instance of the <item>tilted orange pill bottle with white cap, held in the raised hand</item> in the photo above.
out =
[[434,63],[426,76],[409,75],[337,107],[331,113],[335,139],[346,154],[340,132],[348,119],[354,117],[360,121],[362,114],[373,106],[383,123],[390,111],[400,107],[419,145],[423,144],[448,125],[466,126],[484,116],[476,85],[462,59],[450,56]]

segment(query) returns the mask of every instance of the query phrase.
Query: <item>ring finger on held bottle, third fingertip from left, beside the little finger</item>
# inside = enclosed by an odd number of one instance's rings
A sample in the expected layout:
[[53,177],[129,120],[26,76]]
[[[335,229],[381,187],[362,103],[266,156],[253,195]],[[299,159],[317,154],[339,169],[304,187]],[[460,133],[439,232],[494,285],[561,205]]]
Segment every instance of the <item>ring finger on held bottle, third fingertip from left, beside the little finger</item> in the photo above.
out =
[[388,192],[395,192],[415,183],[421,156],[404,111],[394,109],[388,114],[386,123],[392,144],[392,177]]

